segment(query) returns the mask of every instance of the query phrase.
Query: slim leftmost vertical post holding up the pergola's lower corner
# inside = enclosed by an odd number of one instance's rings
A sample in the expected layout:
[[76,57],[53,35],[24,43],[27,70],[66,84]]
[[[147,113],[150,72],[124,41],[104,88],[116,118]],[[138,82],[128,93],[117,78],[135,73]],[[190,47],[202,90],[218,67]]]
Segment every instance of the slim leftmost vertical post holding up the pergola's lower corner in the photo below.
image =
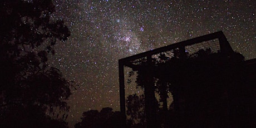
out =
[[125,113],[125,75],[124,62],[119,60],[119,92],[120,92],[120,111],[122,115],[122,124],[126,127],[126,113]]

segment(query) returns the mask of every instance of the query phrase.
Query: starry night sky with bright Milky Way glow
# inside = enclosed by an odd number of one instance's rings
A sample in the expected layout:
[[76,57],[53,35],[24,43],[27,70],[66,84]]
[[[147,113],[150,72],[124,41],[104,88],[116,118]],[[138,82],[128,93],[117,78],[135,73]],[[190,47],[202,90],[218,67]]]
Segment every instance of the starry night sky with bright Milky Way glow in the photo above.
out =
[[[70,126],[82,112],[120,111],[118,60],[223,31],[234,51],[256,58],[255,1],[56,0],[55,19],[71,36],[55,46],[49,64],[75,81],[67,101]],[[132,90],[132,88],[129,88]]]

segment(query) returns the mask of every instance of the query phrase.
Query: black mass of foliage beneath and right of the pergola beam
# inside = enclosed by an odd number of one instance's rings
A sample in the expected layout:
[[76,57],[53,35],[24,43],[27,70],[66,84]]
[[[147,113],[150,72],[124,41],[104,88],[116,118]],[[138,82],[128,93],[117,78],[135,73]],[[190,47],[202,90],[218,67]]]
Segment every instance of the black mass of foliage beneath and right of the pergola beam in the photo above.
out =
[[[210,49],[199,50],[186,59],[160,54],[151,69],[144,60],[137,70],[137,86],[145,88],[148,70],[164,107],[156,111],[155,125],[161,127],[243,127],[254,126],[255,70],[248,71],[240,53],[224,55]],[[133,73],[131,73],[133,74]],[[167,92],[174,96],[168,110]],[[153,101],[154,99],[150,99]],[[129,102],[126,104],[129,105]],[[138,104],[139,105],[139,104]],[[138,106],[137,105],[137,106]],[[128,108],[137,109],[137,106]],[[157,109],[157,108],[156,108]],[[130,114],[131,112],[127,112]],[[157,120],[161,119],[161,120]],[[137,120],[131,116],[130,120]],[[145,126],[145,125],[144,125]]]

